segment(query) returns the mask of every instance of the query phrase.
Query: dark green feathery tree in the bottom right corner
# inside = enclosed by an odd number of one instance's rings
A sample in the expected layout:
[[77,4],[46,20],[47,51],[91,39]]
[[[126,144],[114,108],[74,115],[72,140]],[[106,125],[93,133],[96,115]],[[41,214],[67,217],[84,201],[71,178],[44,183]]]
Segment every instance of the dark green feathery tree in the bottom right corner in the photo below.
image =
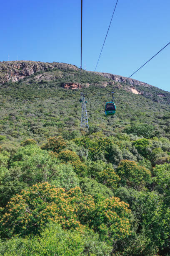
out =
[[129,203],[135,217],[134,224],[137,235],[145,236],[150,248],[155,244],[155,248],[159,248],[160,251],[164,249],[170,253],[168,248],[170,234],[168,201],[163,200],[162,195],[155,191],[138,192],[125,187],[120,187],[115,195]]

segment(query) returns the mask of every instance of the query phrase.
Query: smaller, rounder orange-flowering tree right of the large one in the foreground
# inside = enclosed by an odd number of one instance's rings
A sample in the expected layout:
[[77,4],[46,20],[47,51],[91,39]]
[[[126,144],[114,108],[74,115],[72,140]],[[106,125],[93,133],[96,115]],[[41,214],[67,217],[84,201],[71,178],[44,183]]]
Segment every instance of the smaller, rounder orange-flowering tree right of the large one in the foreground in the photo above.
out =
[[130,210],[128,204],[121,202],[118,197],[105,200],[97,198],[94,211],[88,220],[90,228],[96,230],[102,240],[112,244],[130,235]]

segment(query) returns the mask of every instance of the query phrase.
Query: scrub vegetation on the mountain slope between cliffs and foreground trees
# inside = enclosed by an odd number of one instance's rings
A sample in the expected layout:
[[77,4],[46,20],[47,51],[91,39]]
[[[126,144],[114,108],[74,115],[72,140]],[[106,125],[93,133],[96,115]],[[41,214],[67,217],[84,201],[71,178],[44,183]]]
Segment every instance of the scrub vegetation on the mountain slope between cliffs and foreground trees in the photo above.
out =
[[[0,133],[16,144],[27,138],[34,138],[40,144],[50,136],[61,135],[72,139],[85,135],[80,130],[81,105],[79,90],[66,90],[63,82],[79,82],[77,70],[52,70],[54,80],[38,80],[39,72],[19,82],[1,85]],[[62,74],[62,75],[61,75]],[[93,72],[82,72],[84,91],[87,94],[87,113],[90,123],[90,138],[114,136],[124,132],[137,136],[166,136],[170,138],[170,93],[156,87],[142,87],[145,95],[127,91],[128,84],[117,83]],[[103,87],[103,83],[107,87]],[[120,83],[118,83],[120,84]],[[137,88],[138,89],[138,88]],[[111,100],[110,91],[115,91],[117,111],[108,118],[104,114],[106,101]],[[148,93],[150,90],[150,94]],[[164,94],[166,97],[158,97]],[[95,95],[95,97],[94,97]],[[157,95],[157,96],[156,96]],[[145,124],[147,123],[147,127]]]

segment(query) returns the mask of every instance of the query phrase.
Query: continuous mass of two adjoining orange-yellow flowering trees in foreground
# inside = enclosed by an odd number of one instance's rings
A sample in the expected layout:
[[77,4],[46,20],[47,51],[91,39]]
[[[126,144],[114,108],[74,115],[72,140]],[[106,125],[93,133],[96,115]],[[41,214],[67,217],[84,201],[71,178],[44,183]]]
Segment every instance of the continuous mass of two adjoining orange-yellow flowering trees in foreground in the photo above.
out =
[[64,229],[92,228],[102,240],[120,239],[130,234],[130,210],[117,197],[110,199],[84,196],[79,187],[65,192],[47,182],[38,183],[15,195],[0,220],[1,235],[37,234],[47,223]]

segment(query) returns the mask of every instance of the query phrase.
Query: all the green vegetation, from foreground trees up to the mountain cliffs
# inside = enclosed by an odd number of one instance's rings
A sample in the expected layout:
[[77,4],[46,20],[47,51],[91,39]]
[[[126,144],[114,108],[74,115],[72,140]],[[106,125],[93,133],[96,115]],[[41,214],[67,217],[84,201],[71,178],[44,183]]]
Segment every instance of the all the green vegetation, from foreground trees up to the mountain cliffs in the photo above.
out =
[[113,86],[83,72],[81,129],[80,92],[61,87],[76,72],[1,86],[0,255],[170,255],[169,105],[122,84],[105,117]]

